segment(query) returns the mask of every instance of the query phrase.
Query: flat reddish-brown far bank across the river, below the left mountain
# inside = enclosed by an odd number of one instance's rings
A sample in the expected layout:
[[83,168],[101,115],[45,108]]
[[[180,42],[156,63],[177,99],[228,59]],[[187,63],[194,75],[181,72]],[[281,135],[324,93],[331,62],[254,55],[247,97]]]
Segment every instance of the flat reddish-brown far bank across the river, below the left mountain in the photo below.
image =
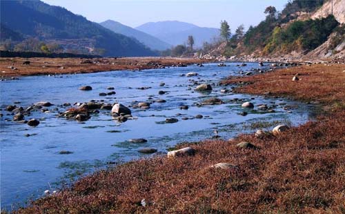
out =
[[109,70],[145,70],[170,66],[201,64],[209,60],[128,57],[128,58],[0,58],[1,77],[27,75],[62,75]]

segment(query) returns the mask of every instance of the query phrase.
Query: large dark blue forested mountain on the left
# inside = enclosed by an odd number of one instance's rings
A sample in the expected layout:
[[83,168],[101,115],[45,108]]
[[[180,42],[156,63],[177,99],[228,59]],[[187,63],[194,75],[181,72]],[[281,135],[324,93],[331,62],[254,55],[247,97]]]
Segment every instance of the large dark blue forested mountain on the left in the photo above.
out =
[[[117,34],[98,23],[39,0],[1,1],[1,26],[26,37],[72,43],[86,50],[104,50],[104,56],[148,56],[155,52],[136,39]],[[2,28],[2,27],[1,27]],[[10,32],[8,30],[8,32]]]

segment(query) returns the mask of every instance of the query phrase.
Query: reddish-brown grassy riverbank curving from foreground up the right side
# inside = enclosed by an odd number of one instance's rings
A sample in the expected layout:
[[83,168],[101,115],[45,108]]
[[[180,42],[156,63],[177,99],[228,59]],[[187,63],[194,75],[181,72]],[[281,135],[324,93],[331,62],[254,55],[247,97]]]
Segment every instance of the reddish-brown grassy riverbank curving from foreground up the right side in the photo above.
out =
[[[223,84],[324,106],[279,135],[181,144],[195,155],[154,157],[100,171],[18,213],[341,213],[345,209],[344,65],[288,68]],[[292,81],[298,73],[299,81]],[[253,148],[238,148],[250,142]],[[209,168],[228,163],[227,169]]]

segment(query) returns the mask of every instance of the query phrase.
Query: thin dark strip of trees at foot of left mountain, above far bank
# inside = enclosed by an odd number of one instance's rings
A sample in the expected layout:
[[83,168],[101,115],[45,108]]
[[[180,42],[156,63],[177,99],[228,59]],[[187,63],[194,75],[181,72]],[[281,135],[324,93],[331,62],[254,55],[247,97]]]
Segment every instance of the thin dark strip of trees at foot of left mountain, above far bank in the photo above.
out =
[[69,52],[16,52],[8,50],[0,50],[0,57],[22,57],[22,58],[31,58],[31,57],[46,57],[46,58],[101,58],[99,55],[77,55]]

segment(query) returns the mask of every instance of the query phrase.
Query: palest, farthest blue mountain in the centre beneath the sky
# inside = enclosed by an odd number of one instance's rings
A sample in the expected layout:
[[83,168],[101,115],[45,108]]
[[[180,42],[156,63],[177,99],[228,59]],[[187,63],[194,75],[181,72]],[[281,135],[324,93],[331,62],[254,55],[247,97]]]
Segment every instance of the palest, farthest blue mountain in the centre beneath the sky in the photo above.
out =
[[174,46],[186,43],[189,35],[193,35],[196,47],[201,47],[205,41],[213,41],[215,37],[219,36],[219,29],[217,28],[201,28],[181,21],[148,22],[135,29]]

